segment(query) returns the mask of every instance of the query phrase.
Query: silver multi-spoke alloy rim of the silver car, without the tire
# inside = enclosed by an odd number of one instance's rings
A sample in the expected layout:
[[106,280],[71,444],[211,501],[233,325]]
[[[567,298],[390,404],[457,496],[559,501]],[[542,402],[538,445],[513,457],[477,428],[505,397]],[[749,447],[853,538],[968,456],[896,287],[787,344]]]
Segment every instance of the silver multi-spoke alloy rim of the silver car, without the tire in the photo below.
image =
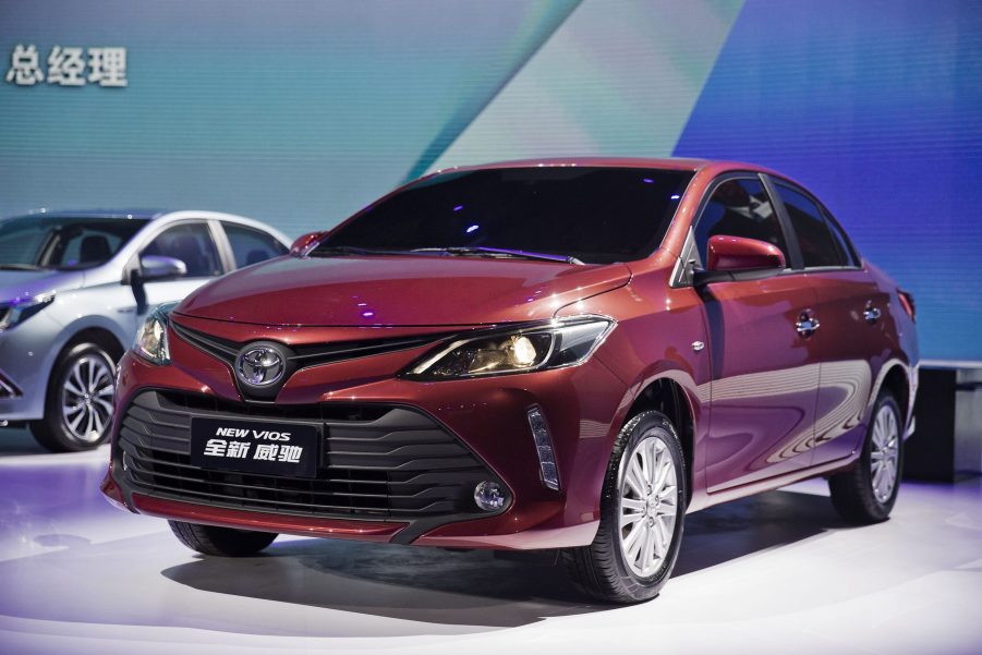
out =
[[78,357],[69,371],[61,392],[61,415],[69,433],[93,444],[112,419],[112,368],[100,357]]

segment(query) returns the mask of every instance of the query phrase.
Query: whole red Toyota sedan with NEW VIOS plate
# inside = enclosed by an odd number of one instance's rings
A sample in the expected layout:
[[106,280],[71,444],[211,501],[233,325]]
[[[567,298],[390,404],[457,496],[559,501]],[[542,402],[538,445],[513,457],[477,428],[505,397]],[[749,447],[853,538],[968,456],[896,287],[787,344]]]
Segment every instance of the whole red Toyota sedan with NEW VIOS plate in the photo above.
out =
[[912,299],[776,172],[452,169],[158,308],[102,489],[209,555],[548,549],[637,602],[687,512],[827,476],[886,519],[917,362]]

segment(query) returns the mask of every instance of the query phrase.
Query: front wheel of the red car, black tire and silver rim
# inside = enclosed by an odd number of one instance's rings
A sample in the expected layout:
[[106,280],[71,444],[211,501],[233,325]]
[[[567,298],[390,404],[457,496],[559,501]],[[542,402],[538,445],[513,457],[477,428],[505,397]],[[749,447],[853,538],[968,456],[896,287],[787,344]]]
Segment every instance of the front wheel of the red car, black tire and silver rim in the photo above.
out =
[[[641,451],[645,448],[652,448],[646,450],[646,457],[654,458],[656,473],[647,477],[638,471]],[[665,457],[669,460],[662,459]],[[663,469],[660,462],[665,462],[666,468]],[[632,469],[634,471],[629,473]],[[643,477],[640,494],[637,489],[639,474]],[[660,493],[659,476],[664,481]],[[675,485],[670,484],[672,476]],[[686,520],[687,485],[686,458],[671,421],[660,412],[644,412],[628,421],[617,436],[607,466],[596,537],[590,546],[567,548],[561,553],[573,584],[604,603],[640,603],[657,596],[678,559]],[[641,500],[643,498],[647,502]],[[623,507],[623,500],[638,505]],[[639,518],[621,529],[622,511]],[[669,513],[671,511],[674,514]],[[667,534],[669,526],[670,535]],[[635,534],[638,530],[641,532]],[[637,554],[629,555],[626,550],[637,550]],[[643,558],[645,553],[651,555],[647,560]]]

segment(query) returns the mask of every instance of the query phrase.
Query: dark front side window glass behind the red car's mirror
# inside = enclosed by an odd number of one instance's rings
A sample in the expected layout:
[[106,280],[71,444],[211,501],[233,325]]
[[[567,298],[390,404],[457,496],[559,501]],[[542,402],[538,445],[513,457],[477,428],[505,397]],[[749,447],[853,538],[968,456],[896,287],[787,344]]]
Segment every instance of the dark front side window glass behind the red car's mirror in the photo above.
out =
[[710,196],[695,227],[701,265],[705,266],[710,239],[719,234],[765,241],[790,260],[777,213],[760,180],[727,180]]

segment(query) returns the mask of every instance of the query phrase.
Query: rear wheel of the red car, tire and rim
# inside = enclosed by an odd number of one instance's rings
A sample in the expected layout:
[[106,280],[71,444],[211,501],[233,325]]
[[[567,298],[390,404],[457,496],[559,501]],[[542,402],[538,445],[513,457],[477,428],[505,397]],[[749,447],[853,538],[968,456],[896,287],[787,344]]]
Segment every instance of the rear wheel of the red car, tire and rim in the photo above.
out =
[[[894,396],[889,391],[881,392],[856,465],[828,478],[832,504],[850,523],[880,523],[894,509],[904,470],[901,416]],[[884,463],[876,466],[877,461]],[[890,474],[892,481],[884,477]]]

